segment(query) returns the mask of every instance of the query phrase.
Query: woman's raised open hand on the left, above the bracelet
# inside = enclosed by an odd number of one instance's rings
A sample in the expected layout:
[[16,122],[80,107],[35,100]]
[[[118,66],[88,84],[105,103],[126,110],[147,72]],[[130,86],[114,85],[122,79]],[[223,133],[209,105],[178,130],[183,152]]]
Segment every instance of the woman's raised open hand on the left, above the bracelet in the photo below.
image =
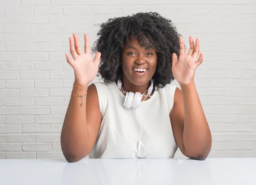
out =
[[73,38],[69,38],[70,53],[74,60],[70,58],[70,55],[66,53],[67,62],[73,67],[75,72],[75,84],[85,86],[88,85],[96,76],[99,70],[99,60],[101,53],[98,52],[92,60],[90,52],[89,38],[87,34],[84,34],[84,53],[79,45],[79,38],[74,33]]

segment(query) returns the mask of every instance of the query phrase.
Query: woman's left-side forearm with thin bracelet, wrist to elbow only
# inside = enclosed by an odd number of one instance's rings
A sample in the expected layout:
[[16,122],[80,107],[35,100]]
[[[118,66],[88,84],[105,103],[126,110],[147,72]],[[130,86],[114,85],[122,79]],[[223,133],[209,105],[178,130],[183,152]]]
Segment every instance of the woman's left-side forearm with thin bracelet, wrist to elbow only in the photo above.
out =
[[[72,93],[75,95],[85,95],[87,87],[73,85]],[[86,99],[71,95],[67,107],[67,113],[61,130],[61,149],[68,162],[75,162],[87,153],[88,128],[86,123]]]

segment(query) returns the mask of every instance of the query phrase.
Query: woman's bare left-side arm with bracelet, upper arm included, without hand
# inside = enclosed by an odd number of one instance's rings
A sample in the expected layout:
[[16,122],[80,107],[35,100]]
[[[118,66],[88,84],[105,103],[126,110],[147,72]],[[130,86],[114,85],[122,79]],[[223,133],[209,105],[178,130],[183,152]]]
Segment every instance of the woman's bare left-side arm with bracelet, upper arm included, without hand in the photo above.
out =
[[98,95],[95,85],[81,87],[73,85],[70,103],[61,130],[61,149],[68,162],[76,162],[90,153],[101,123]]

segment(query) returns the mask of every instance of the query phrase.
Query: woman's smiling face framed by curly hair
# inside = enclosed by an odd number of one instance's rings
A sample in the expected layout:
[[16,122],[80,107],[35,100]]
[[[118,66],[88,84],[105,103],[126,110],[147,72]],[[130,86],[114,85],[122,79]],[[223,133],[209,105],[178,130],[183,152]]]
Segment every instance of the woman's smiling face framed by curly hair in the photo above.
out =
[[[150,43],[148,39],[147,42]],[[136,38],[131,37],[130,43],[131,46],[126,43],[122,50],[123,78],[142,86],[150,81],[156,71],[157,53],[152,48],[141,46]]]

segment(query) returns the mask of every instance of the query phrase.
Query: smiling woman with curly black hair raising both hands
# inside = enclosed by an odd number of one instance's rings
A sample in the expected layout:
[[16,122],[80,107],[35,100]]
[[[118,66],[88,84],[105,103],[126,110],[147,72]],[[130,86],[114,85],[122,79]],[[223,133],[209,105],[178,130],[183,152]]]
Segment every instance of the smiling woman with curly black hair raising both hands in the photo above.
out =
[[[94,60],[86,34],[85,53],[73,34],[74,60],[66,54],[75,72],[61,131],[67,161],[88,154],[173,158],[177,147],[189,158],[206,159],[212,138],[194,83],[203,61],[199,39],[189,37],[185,53],[171,20],[152,12],[110,19],[97,35]],[[90,84],[98,71],[104,82]],[[174,79],[181,90],[170,84]]]

